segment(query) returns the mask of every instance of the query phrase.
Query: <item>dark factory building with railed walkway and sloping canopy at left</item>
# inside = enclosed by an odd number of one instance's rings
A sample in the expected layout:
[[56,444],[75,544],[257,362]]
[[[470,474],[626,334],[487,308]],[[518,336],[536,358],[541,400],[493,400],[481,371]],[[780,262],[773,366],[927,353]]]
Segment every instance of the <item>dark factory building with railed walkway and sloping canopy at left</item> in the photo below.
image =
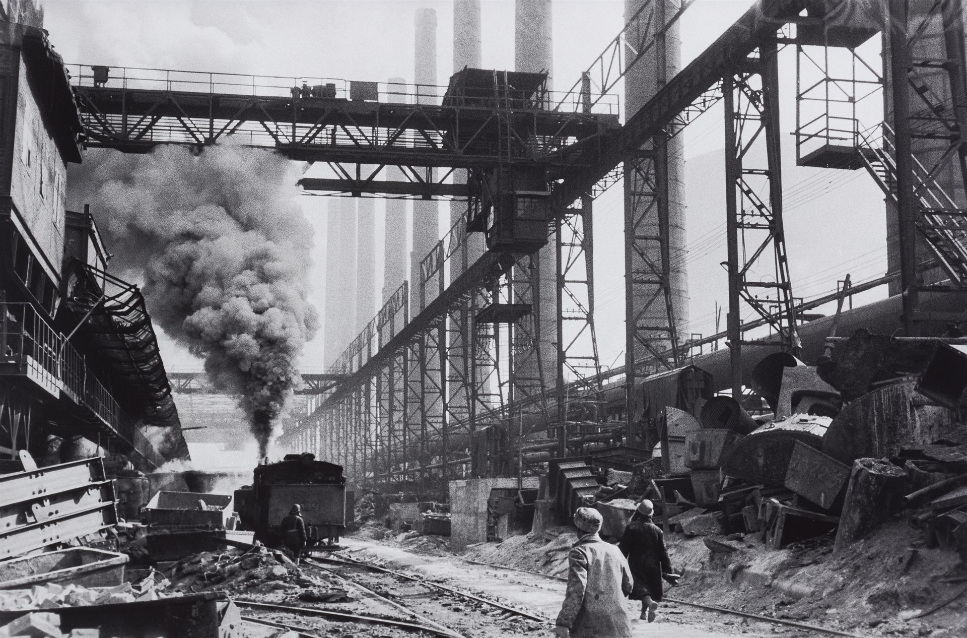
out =
[[147,471],[187,444],[144,299],[107,272],[90,213],[66,209],[81,124],[25,7],[0,15],[0,469],[19,468],[17,450],[44,465],[97,445]]

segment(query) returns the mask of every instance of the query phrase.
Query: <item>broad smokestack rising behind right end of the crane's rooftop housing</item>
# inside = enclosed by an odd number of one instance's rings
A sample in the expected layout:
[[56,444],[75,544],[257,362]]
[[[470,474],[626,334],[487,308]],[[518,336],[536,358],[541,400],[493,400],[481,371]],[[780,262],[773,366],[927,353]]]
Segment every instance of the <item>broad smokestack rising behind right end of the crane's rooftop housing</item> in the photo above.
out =
[[[550,0],[516,0],[514,5],[513,64],[516,71],[547,72],[547,88],[551,88],[553,55],[551,50]],[[534,328],[537,356],[517,360],[516,377],[522,384],[533,386],[542,380],[544,388],[553,388],[557,379],[557,246],[554,239],[533,258],[531,272]],[[516,279],[516,277],[515,277]],[[540,356],[540,368],[538,362]]]

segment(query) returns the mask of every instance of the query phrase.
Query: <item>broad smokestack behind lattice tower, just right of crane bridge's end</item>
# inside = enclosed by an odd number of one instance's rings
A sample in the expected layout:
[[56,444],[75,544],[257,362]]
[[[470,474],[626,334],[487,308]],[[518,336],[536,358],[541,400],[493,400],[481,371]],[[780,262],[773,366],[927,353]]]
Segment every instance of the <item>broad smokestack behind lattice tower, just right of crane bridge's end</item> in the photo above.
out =
[[[625,18],[634,15],[646,0],[626,0]],[[658,0],[664,2],[664,15],[674,15],[678,11],[681,0]],[[682,34],[679,28],[681,22],[676,22],[665,34],[665,77],[672,77],[682,67]],[[656,25],[659,28],[660,25]],[[628,34],[630,38],[638,34]],[[645,105],[658,92],[658,46],[642,56],[638,63],[631,67],[625,76],[625,117],[631,115]],[[650,143],[644,148],[650,147]],[[668,142],[668,251],[671,255],[685,255],[685,143],[684,136],[672,137]],[[636,182],[637,180],[635,180]],[[636,183],[630,185],[626,191],[625,205],[631,205],[628,193],[639,190]],[[657,236],[659,234],[658,217],[652,215],[654,226],[638,228],[638,235]],[[654,263],[661,263],[661,252],[657,243],[653,243],[646,251],[646,257]],[[643,270],[645,262],[637,254],[631,256],[631,268],[634,271]],[[689,335],[689,278],[684,259],[672,259],[671,263],[671,297],[672,308],[675,313],[675,328],[680,340]],[[650,295],[635,295],[632,299],[635,316],[639,316],[642,325],[666,325],[667,314],[663,303],[652,303],[645,310],[644,306],[650,302]],[[643,314],[642,314],[643,313]],[[668,346],[670,343],[665,342]],[[661,349],[660,344],[656,348]]]

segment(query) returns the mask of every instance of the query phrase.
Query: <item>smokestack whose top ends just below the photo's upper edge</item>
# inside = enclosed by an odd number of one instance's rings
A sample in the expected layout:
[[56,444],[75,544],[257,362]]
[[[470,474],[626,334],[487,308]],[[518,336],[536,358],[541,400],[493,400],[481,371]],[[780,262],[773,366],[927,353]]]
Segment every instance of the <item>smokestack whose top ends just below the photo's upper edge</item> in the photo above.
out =
[[[435,105],[436,87],[436,11],[417,9],[414,77],[419,104]],[[436,179],[436,170],[432,170]],[[420,308],[420,262],[440,239],[440,209],[436,201],[413,202],[413,242],[410,253],[410,316]]]

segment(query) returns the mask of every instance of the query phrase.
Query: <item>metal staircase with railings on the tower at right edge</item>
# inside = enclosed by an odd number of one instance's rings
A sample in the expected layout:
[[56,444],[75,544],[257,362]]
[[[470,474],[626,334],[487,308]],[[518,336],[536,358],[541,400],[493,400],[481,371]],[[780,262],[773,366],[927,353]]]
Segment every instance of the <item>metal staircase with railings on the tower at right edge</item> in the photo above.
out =
[[[877,185],[896,202],[894,131],[887,124],[860,132],[858,152]],[[957,206],[936,176],[913,157],[917,230],[954,288],[967,288],[967,210]]]

